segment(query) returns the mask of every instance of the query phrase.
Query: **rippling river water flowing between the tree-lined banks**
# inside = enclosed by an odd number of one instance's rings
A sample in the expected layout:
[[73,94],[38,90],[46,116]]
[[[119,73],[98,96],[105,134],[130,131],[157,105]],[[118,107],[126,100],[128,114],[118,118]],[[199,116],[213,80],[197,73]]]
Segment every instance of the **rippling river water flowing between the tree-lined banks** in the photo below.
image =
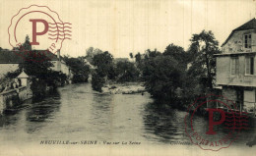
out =
[[[169,144],[190,141],[185,134],[186,112],[166,110],[149,94],[99,94],[90,83],[70,84],[36,103],[24,103],[0,117],[0,141],[37,143],[40,140],[139,141]],[[205,128],[204,118],[195,125]],[[203,129],[202,129],[203,130]],[[255,129],[243,131],[234,145],[245,145]]]

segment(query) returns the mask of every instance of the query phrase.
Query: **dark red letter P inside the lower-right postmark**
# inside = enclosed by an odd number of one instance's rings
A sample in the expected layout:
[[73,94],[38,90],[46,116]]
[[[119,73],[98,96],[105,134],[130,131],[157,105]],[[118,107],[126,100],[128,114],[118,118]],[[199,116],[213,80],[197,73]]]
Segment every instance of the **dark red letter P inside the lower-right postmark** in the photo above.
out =
[[[216,131],[214,131],[214,126],[221,125],[224,123],[224,119],[225,119],[224,111],[221,109],[213,109],[213,108],[209,108],[207,109],[207,111],[209,112],[209,130],[206,132],[206,134],[216,134]],[[221,113],[222,118],[220,121],[214,122],[214,112]]]

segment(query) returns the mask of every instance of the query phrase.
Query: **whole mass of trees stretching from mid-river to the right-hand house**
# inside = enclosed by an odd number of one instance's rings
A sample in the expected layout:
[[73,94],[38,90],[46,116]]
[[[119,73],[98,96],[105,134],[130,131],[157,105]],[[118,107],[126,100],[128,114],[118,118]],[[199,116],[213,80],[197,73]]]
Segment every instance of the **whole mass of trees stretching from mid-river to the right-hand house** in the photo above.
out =
[[101,91],[107,78],[124,82],[142,77],[146,89],[155,99],[179,99],[182,103],[190,103],[195,96],[213,88],[216,75],[214,55],[221,53],[212,31],[193,34],[190,41],[188,51],[171,43],[163,53],[157,49],[148,49],[144,54],[138,52],[135,56],[130,53],[135,63],[118,62],[114,66],[111,54],[97,54],[93,58],[97,68],[93,88]]

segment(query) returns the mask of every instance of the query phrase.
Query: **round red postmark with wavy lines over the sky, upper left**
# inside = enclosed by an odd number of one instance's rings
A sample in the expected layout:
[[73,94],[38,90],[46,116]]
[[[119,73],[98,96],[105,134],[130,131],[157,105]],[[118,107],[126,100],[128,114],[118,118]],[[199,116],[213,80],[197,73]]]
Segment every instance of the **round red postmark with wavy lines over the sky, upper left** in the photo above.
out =
[[[63,23],[59,15],[47,6],[32,5],[22,8],[12,18],[8,27],[9,43],[14,49],[19,48],[16,54],[24,58],[32,53],[38,56],[46,53],[55,54],[61,49],[65,39],[71,39],[71,28],[70,23]],[[23,50],[27,35],[32,45],[29,52],[28,49]]]

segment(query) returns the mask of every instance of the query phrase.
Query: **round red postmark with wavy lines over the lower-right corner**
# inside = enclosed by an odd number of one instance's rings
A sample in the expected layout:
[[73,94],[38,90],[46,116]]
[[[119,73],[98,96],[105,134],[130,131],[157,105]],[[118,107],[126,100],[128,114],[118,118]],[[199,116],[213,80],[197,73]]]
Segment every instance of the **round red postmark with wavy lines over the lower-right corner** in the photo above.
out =
[[[188,107],[185,130],[193,144],[203,150],[219,151],[228,148],[237,139],[240,130],[248,129],[248,117],[239,111],[236,103],[220,95],[207,95],[198,98]],[[196,125],[197,114],[204,116],[205,122]],[[197,122],[198,123],[198,122]]]

